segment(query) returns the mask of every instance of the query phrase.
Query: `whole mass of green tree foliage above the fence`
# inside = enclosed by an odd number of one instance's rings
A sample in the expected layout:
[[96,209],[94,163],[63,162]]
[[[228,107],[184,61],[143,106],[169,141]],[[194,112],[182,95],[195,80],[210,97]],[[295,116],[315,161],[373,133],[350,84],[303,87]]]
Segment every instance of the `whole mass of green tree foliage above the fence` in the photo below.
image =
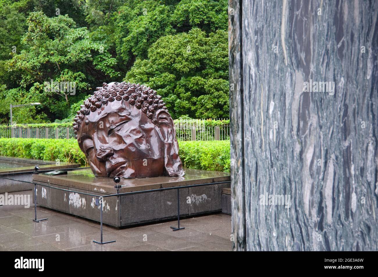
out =
[[31,102],[17,122],[67,122],[121,80],[157,89],[174,118],[228,116],[227,0],[0,0],[0,19],[0,123]]

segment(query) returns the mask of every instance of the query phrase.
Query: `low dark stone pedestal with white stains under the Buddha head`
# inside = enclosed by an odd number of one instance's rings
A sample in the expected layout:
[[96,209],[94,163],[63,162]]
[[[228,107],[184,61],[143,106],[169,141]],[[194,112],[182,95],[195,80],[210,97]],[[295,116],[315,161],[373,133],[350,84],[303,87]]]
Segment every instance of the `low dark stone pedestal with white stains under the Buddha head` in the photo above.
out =
[[[154,177],[121,179],[119,193],[146,191],[157,188],[179,187],[230,181],[229,173],[204,170],[185,170],[183,177]],[[37,185],[37,204],[43,207],[100,221],[100,206],[96,196],[115,194],[115,183],[110,178],[96,178],[90,170],[70,171],[68,174],[33,176]],[[74,192],[57,190],[64,188]],[[230,183],[180,189],[180,216],[222,211],[222,189]],[[177,218],[177,190],[105,197],[103,223],[116,227]]]

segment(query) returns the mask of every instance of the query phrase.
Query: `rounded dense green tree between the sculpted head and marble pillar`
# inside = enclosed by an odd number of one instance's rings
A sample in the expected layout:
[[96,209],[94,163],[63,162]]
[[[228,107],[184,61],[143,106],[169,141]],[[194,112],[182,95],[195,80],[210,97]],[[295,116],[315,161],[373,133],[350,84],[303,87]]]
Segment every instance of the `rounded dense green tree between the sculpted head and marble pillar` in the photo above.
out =
[[200,29],[154,43],[147,60],[136,60],[125,80],[144,83],[164,97],[174,117],[228,116],[227,32]]

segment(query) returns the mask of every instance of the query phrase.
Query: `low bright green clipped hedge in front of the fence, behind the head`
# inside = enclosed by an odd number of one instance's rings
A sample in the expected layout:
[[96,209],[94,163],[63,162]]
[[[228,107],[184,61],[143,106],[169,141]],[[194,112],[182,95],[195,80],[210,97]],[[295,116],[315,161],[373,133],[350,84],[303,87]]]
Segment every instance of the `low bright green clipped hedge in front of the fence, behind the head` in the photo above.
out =
[[[184,167],[230,171],[230,141],[179,141]],[[87,165],[76,139],[0,138],[0,155]]]

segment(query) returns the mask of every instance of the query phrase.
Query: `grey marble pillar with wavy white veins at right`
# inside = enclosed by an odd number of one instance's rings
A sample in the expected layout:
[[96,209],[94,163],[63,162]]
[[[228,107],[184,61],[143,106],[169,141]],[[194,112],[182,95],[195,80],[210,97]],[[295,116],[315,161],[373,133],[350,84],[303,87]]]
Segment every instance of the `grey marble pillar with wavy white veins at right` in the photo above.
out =
[[377,16],[229,0],[234,250],[378,250]]

